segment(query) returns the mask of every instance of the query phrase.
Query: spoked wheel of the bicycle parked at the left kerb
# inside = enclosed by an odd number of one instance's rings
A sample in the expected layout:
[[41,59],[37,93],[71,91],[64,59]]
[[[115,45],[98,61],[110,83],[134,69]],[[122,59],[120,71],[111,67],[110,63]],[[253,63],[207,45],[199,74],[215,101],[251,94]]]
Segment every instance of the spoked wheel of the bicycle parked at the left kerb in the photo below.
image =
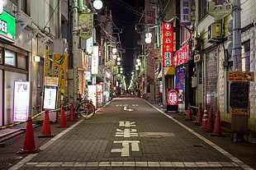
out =
[[92,103],[83,102],[80,103],[77,109],[77,113],[84,119],[89,119],[95,114],[95,108]]

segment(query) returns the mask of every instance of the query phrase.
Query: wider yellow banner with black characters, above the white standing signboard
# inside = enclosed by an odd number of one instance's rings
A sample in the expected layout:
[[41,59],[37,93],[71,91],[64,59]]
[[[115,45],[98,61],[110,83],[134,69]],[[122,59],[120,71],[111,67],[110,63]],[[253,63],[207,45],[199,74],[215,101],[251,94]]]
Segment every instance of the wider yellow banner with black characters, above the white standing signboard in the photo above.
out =
[[54,54],[53,76],[59,77],[59,89],[64,93],[67,78],[68,55]]

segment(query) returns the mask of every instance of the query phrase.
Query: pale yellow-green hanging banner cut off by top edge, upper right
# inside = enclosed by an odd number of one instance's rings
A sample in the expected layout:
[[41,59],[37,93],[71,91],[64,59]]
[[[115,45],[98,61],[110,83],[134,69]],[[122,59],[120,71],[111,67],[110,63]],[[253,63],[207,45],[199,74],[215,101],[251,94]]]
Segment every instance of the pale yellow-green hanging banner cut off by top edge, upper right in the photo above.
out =
[[232,11],[233,0],[211,0],[207,1],[206,10],[216,20],[221,20]]

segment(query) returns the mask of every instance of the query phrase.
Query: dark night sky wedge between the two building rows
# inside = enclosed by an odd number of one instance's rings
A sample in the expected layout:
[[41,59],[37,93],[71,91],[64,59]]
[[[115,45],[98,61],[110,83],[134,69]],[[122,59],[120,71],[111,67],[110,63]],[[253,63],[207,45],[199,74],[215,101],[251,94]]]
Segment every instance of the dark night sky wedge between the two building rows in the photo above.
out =
[[[123,67],[128,78],[127,73],[130,73],[133,69],[133,53],[135,48],[135,23],[140,16],[135,14],[136,3],[138,0],[107,0],[107,7],[111,9],[112,18],[115,25],[122,30],[121,47],[125,49],[126,53],[123,53]],[[134,10],[134,11],[133,11]],[[126,81],[127,83],[127,81]]]

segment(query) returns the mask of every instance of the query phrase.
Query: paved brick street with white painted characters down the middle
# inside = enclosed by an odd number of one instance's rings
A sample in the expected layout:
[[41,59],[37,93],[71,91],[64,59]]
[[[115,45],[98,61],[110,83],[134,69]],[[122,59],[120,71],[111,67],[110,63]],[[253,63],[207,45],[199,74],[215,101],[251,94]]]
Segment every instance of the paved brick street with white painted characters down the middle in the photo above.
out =
[[114,99],[89,120],[68,122],[67,128],[51,125],[55,137],[35,138],[38,154],[15,154],[24,134],[7,140],[0,148],[2,169],[256,168],[254,144],[210,136],[184,119],[144,99]]

